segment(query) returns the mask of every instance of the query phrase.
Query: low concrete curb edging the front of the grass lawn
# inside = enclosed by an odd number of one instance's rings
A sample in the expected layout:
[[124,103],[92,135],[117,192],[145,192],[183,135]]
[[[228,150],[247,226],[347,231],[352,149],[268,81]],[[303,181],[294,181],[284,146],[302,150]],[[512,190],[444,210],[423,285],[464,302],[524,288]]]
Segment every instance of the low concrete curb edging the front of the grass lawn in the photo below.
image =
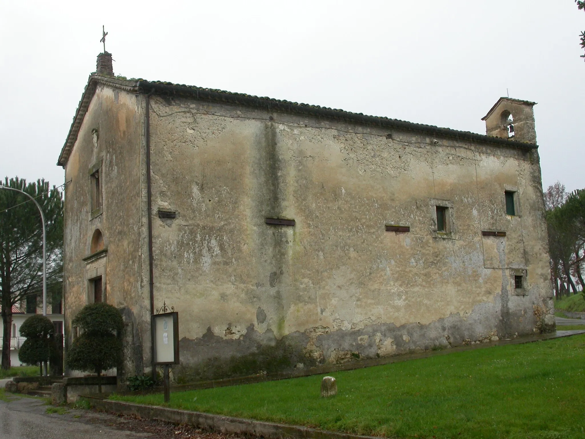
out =
[[111,401],[92,396],[84,396],[84,398],[96,409],[118,414],[131,414],[144,419],[157,419],[175,424],[190,424],[203,430],[213,430],[225,434],[240,434],[266,439],[380,439],[374,436],[338,433],[336,431],[241,419],[220,414],[201,413],[199,411],[143,406],[142,404]]

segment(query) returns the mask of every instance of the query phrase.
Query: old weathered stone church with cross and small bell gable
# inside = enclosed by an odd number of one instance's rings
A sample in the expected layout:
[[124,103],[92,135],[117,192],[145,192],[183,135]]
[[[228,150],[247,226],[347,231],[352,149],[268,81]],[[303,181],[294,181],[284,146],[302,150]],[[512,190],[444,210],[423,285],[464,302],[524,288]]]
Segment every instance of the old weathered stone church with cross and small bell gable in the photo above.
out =
[[125,319],[122,378],[174,307],[177,382],[553,331],[534,104],[500,98],[480,135],[128,80],[99,54],[57,162],[68,344],[94,301]]

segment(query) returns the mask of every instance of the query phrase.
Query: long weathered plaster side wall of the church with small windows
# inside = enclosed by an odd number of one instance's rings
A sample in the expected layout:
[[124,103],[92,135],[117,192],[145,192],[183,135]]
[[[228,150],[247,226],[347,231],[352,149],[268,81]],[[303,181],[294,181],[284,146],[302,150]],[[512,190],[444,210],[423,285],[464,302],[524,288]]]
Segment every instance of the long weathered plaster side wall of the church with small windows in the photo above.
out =
[[[160,97],[150,116],[155,304],[180,313],[180,378],[554,324],[535,151]],[[433,203],[452,207],[450,234]],[[525,295],[511,269],[527,270]]]

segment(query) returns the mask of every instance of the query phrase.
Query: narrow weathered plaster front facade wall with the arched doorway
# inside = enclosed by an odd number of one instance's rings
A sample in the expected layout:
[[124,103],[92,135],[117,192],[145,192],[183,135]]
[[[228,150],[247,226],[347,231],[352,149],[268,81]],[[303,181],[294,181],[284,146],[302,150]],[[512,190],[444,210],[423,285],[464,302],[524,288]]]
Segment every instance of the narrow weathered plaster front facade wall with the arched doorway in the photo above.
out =
[[[66,165],[64,213],[67,344],[73,338],[71,320],[92,301],[88,273],[105,270],[105,300],[125,308],[127,365],[140,372],[143,368],[140,345],[146,339],[141,331],[150,333],[149,299],[143,297],[140,284],[141,234],[145,233],[140,211],[142,102],[143,97],[139,95],[98,87]],[[98,133],[97,146],[92,135],[94,129]],[[90,169],[100,162],[102,213],[92,217]],[[101,230],[107,252],[88,260],[95,229]],[[131,375],[134,373],[130,371]]]

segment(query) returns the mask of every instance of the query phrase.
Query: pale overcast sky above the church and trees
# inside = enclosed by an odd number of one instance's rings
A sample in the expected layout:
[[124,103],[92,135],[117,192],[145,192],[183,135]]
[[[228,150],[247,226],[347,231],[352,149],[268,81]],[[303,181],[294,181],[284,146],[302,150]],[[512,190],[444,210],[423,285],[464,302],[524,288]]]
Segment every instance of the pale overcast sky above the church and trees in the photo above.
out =
[[114,73],[485,133],[536,101],[543,186],[585,187],[585,12],[573,0],[0,2],[0,176],[57,157],[102,24]]

